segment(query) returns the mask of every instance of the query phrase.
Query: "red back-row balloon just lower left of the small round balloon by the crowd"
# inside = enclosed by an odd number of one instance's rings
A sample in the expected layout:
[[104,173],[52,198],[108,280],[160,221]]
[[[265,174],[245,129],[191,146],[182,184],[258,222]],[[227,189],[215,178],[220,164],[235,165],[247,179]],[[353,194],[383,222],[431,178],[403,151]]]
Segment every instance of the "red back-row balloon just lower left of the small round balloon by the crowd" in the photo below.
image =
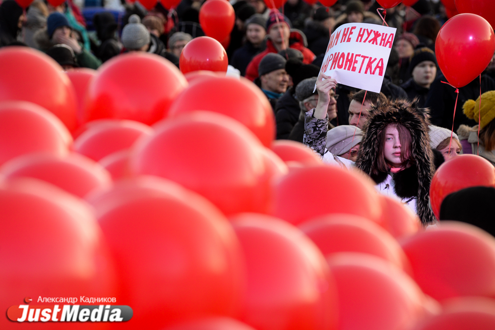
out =
[[151,125],[160,120],[187,81],[165,58],[143,52],[116,56],[92,80],[84,121],[131,119]]

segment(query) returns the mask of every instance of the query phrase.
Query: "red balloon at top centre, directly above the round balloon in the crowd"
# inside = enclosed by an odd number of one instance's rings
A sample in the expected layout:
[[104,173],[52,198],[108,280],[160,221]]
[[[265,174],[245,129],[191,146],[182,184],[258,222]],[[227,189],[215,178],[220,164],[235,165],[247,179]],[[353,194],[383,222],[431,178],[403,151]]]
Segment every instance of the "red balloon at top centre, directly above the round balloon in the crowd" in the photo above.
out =
[[236,22],[234,7],[225,0],[207,0],[199,9],[199,24],[204,33],[219,42],[230,36]]

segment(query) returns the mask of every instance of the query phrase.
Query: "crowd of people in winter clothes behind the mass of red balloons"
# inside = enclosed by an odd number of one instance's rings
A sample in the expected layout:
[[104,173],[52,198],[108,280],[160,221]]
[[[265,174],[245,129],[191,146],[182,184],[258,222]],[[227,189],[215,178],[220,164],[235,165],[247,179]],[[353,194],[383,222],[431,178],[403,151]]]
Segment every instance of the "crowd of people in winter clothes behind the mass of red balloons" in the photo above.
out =
[[[158,2],[148,11],[138,1],[104,0],[94,10],[88,0],[57,7],[35,0],[23,10],[14,0],[3,0],[0,47],[38,49],[64,70],[97,69],[127,52],[157,54],[179,67],[186,44],[204,36],[202,2],[182,0],[175,10]],[[439,165],[464,153],[495,166],[495,62],[480,79],[459,88],[462,111],[454,117],[455,90],[442,83],[446,79],[435,56],[435,38],[448,19],[440,1],[387,9],[384,20],[397,32],[380,93],[317,78],[336,28],[383,24],[376,1],[339,0],[325,7],[288,0],[280,10],[263,0],[230,2],[236,23],[226,46],[229,64],[266,95],[277,139],[304,142],[328,163],[357,166],[424,224],[435,222],[429,185]]]

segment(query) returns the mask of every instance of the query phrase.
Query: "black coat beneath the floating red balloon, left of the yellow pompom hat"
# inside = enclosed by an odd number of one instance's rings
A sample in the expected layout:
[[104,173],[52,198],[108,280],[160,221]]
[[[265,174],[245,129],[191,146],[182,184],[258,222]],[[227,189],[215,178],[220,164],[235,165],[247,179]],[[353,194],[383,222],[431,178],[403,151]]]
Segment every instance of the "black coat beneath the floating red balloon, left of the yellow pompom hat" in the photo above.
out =
[[[430,108],[431,122],[433,125],[452,129],[452,117],[454,115],[455,105],[455,88],[443,84],[447,81],[441,74],[430,86],[425,107]],[[495,81],[487,75],[481,76],[481,93],[495,90]],[[454,132],[457,131],[461,124],[474,126],[476,122],[468,119],[462,112],[462,106],[467,100],[476,100],[480,97],[480,78],[476,78],[464,87],[459,88],[459,99],[457,101],[457,110],[454,118]]]

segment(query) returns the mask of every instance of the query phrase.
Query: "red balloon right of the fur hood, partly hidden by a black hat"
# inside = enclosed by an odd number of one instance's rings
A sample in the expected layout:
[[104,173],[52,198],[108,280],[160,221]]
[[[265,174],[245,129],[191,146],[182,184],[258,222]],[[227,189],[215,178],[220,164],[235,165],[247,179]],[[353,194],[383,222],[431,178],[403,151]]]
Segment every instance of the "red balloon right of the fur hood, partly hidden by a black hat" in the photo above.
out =
[[440,219],[440,206],[448,194],[464,188],[495,187],[495,168],[476,155],[461,155],[443,163],[433,175],[430,185],[432,210]]

